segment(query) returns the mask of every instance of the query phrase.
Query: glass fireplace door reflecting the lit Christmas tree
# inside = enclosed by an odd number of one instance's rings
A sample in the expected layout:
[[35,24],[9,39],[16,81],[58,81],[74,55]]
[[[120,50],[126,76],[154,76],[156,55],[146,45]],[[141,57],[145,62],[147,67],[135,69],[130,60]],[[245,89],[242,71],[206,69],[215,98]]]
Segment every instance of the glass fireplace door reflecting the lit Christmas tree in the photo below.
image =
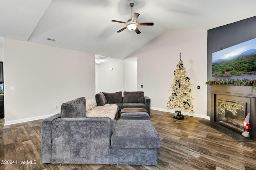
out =
[[245,102],[218,99],[218,122],[243,132],[245,109]]

